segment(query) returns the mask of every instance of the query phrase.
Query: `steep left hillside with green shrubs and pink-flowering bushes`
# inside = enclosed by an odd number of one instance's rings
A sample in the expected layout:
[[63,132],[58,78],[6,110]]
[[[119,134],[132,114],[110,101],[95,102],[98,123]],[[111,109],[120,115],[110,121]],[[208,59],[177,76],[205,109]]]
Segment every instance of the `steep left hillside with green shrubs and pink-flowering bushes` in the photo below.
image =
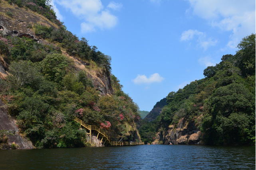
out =
[[113,141],[140,141],[138,106],[111,57],[69,32],[48,0],[0,1],[0,15],[0,99],[23,137],[37,148],[89,146],[76,116]]

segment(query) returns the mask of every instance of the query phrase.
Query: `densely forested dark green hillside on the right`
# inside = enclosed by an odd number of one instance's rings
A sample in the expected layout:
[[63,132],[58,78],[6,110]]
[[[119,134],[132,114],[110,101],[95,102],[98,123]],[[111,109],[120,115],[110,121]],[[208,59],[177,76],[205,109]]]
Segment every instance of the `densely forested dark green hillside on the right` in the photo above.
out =
[[200,129],[207,145],[255,145],[255,34],[237,47],[235,55],[208,66],[205,78],[170,92],[157,119],[141,126],[142,139],[151,142],[157,132],[167,134],[186,121]]

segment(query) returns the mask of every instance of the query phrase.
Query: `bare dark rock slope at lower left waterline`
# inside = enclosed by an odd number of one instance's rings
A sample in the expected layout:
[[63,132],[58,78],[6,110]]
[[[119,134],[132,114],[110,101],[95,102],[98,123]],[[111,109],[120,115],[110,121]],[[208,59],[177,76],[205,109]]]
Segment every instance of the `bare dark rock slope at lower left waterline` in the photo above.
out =
[[7,130],[14,135],[8,136],[8,143],[16,143],[20,146],[20,149],[33,149],[33,145],[30,141],[24,139],[19,134],[19,129],[15,124],[15,120],[8,115],[8,111],[5,109],[4,103],[0,100],[0,130]]

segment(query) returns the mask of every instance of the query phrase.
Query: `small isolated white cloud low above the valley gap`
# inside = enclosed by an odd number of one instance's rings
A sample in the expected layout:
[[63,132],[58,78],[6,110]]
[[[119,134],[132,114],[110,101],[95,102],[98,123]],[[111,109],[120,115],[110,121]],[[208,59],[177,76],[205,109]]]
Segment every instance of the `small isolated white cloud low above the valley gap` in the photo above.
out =
[[134,84],[150,84],[155,82],[162,82],[165,78],[161,77],[158,73],[151,74],[149,78],[145,74],[140,75],[133,79]]

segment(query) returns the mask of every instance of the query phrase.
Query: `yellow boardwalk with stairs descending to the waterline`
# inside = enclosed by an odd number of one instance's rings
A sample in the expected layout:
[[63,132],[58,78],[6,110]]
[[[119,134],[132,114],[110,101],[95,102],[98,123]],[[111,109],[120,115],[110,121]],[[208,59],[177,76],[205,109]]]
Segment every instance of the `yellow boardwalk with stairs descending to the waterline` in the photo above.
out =
[[89,133],[87,133],[87,135],[89,135],[90,137],[90,143],[91,143],[91,133],[92,131],[97,133],[97,139],[99,137],[101,137],[101,143],[103,143],[103,145],[105,146],[128,146],[128,145],[144,145],[143,142],[116,142],[116,141],[110,141],[109,137],[107,136],[107,134],[105,134],[105,132],[100,129],[99,127],[95,126],[95,125],[88,125],[87,123],[84,123],[81,119],[77,118],[74,116],[74,121],[80,123],[81,126],[83,126],[87,131],[89,131]]

